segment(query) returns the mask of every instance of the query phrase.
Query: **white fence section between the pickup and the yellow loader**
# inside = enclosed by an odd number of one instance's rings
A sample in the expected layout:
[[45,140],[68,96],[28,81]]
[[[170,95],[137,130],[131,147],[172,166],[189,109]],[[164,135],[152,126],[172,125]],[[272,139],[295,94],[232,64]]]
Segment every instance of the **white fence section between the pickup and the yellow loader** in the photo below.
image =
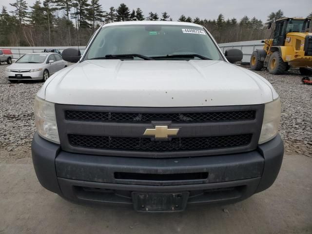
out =
[[224,53],[227,49],[240,49],[243,52],[243,60],[242,63],[249,63],[250,57],[254,50],[262,49],[263,43],[261,40],[249,40],[249,41],[237,41],[237,42],[230,42],[230,43],[222,43],[219,44],[220,49]]

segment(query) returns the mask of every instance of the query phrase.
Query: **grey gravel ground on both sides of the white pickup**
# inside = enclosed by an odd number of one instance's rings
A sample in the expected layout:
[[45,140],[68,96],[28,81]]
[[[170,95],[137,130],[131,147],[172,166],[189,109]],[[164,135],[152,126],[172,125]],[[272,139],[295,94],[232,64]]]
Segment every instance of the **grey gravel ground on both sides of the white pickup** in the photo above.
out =
[[[10,83],[3,78],[7,65],[0,65],[0,158],[29,157],[35,132],[33,101],[41,82]],[[268,79],[282,100],[280,134],[288,154],[312,157],[312,85],[303,85],[298,70]]]

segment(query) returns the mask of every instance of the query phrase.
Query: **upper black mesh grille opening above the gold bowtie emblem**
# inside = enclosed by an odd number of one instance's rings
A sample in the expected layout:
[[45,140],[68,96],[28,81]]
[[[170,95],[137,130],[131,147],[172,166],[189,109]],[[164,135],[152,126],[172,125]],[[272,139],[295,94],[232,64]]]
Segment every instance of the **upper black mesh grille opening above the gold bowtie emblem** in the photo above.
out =
[[205,122],[254,119],[255,111],[230,111],[207,113],[115,113],[95,111],[66,111],[68,120],[78,121],[117,121],[117,122],[150,122],[170,120],[173,122]]

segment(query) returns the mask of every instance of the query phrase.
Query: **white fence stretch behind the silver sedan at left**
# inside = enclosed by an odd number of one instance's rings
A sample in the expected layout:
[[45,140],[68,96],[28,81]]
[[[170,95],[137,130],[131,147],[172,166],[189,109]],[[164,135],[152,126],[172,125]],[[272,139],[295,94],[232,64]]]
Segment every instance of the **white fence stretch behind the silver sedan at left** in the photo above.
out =
[[[44,49],[59,49],[60,52],[62,52],[64,49],[67,49],[69,47],[77,47],[77,46],[45,46],[45,47],[0,47],[1,49],[10,49],[13,54],[13,59],[19,59],[24,54],[33,53],[33,52],[42,52]],[[79,46],[79,49],[82,52],[86,49],[85,46]]]

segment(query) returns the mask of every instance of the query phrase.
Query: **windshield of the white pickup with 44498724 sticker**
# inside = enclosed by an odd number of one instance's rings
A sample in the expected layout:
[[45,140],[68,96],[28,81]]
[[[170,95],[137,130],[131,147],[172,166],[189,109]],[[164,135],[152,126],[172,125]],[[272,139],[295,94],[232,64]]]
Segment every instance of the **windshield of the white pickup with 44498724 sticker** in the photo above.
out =
[[[121,25],[100,30],[85,59],[107,55],[137,54],[146,57],[196,54],[223,60],[212,39],[202,27],[188,25]],[[142,59],[135,57],[133,59]],[[200,59],[198,57],[159,59]]]

